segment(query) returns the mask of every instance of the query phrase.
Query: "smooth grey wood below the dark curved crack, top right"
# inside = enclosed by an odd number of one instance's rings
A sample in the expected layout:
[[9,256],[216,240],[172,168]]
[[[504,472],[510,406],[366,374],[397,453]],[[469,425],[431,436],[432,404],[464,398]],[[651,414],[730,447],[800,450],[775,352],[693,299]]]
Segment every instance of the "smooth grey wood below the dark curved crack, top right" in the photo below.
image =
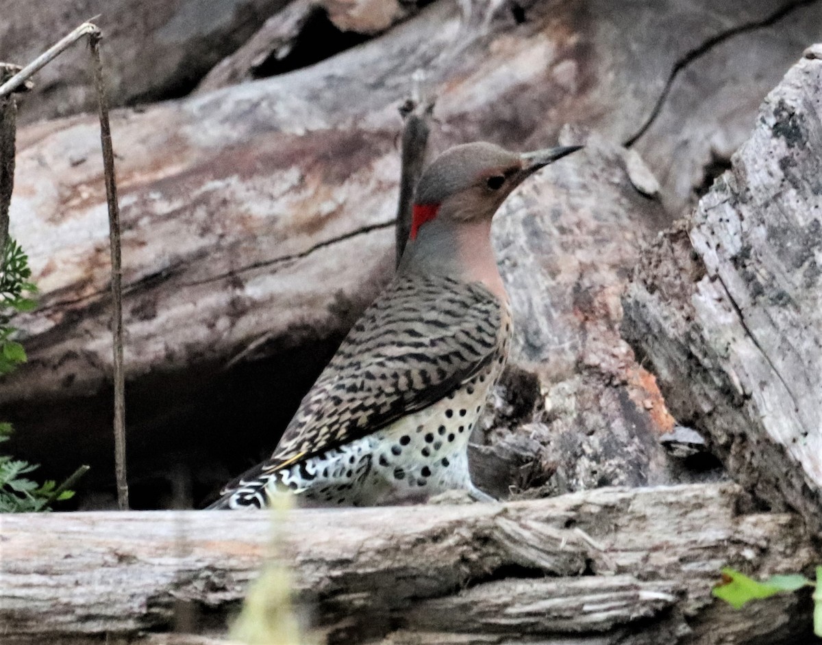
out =
[[668,208],[690,213],[728,167],[765,94],[822,39],[819,12],[819,2],[774,2],[767,15],[740,14],[679,59],[658,111],[630,144],[653,168]]

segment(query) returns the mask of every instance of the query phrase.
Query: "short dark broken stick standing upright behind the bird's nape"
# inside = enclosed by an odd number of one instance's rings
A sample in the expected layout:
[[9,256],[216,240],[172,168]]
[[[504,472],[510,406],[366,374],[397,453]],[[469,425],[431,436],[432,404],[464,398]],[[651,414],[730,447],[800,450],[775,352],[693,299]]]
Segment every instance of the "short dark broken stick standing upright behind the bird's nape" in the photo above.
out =
[[399,176],[399,204],[397,207],[396,249],[397,265],[403,257],[405,242],[411,231],[413,192],[417,187],[428,149],[429,120],[434,110],[434,99],[423,96],[423,73],[418,70],[412,76],[411,96],[399,112],[403,115],[402,167]]

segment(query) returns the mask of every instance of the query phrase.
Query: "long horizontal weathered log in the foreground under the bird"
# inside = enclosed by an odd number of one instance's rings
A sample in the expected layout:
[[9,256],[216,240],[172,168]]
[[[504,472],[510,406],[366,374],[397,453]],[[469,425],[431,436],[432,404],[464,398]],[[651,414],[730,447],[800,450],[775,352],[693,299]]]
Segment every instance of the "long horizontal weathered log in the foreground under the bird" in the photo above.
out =
[[[740,515],[740,496],[710,484],[298,510],[279,549],[325,643],[796,643],[810,629],[801,593],[743,611],[710,596],[723,565],[765,575],[820,555],[797,515]],[[134,642],[169,630],[181,602],[219,636],[270,553],[255,512],[0,521],[9,645]]]

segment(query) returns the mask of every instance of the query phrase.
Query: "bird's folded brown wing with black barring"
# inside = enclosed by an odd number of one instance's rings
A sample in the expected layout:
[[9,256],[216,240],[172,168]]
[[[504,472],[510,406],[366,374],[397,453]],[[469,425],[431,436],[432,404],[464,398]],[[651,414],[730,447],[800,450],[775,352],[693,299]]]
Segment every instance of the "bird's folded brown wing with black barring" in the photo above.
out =
[[254,470],[273,473],[448,396],[496,359],[501,316],[500,300],[478,283],[396,278],[302,399],[274,455]]

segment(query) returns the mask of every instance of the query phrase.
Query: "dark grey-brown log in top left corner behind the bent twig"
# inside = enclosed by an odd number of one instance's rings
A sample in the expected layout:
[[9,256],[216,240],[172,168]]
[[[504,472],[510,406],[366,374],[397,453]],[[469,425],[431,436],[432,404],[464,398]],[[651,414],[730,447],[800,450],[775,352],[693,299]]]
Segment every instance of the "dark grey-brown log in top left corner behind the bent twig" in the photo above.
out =
[[[233,53],[288,0],[233,0],[204,11],[192,0],[113,0],[98,25],[113,105],[187,94],[223,57]],[[62,34],[95,15],[99,6],[4,2],[0,60],[25,64]],[[94,112],[96,95],[88,54],[78,46],[40,71],[21,109],[21,122]]]

